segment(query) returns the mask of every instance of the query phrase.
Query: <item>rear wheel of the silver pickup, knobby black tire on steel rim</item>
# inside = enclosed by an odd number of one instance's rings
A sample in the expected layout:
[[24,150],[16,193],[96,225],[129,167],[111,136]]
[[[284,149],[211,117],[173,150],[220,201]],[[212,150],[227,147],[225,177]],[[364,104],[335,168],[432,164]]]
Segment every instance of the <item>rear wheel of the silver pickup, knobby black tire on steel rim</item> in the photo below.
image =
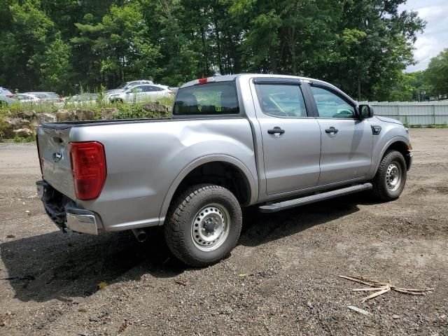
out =
[[[204,209],[209,214],[205,214]],[[210,218],[211,229],[207,226],[207,219]],[[221,186],[200,184],[188,188],[172,202],[165,222],[165,240],[176,258],[187,265],[203,267],[213,265],[235,248],[241,226],[241,207],[237,198]],[[194,233],[197,230],[202,230],[200,235]],[[223,233],[213,244],[211,241],[200,239],[208,238],[207,235],[214,237],[221,230]],[[211,232],[214,232],[213,235]],[[207,250],[207,248],[214,249]]]

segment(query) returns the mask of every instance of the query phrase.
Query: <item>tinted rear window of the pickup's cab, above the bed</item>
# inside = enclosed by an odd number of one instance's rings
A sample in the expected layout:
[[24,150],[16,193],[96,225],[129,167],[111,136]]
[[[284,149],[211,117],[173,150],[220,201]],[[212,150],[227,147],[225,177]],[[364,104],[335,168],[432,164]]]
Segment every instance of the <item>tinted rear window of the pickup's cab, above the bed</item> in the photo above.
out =
[[235,82],[209,83],[179,89],[174,116],[238,114]]

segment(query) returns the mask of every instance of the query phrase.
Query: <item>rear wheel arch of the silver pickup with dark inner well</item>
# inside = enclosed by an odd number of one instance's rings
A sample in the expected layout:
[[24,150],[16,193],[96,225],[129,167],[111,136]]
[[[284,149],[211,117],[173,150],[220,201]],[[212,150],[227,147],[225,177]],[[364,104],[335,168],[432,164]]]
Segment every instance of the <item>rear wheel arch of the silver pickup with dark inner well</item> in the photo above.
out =
[[[209,174],[208,172],[211,171],[214,173]],[[204,172],[206,174],[201,174]],[[230,174],[230,176],[227,176],[227,174]],[[236,177],[236,180],[234,181],[232,177]],[[238,183],[241,182],[238,181],[239,179],[242,179],[244,183],[242,190],[237,190]],[[228,186],[228,183],[220,183],[223,181],[234,181],[235,186]],[[258,184],[255,181],[256,179],[248,167],[230,155],[207,155],[197,159],[184,168],[169,187],[160,209],[160,225],[165,223],[165,216],[174,197],[181,193],[182,190],[188,188],[188,186],[199,183],[223,185],[236,194],[235,196],[242,206],[246,206],[253,204],[258,197]]]

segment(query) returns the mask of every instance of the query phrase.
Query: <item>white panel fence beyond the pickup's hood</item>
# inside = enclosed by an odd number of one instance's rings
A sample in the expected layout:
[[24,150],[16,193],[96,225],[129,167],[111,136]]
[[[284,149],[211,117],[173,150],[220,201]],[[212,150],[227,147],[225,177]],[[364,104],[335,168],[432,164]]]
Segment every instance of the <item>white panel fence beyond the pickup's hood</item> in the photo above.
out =
[[374,114],[398,119],[408,125],[448,123],[448,101],[444,102],[359,102],[373,106]]

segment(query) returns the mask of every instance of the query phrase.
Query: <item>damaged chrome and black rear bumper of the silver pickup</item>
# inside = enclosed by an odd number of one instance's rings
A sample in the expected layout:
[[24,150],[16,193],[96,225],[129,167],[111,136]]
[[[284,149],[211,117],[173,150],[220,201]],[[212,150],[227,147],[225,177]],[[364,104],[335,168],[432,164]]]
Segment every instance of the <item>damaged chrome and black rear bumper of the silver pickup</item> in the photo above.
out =
[[73,200],[59,193],[45,181],[37,181],[36,188],[45,212],[60,230],[66,232],[66,229],[69,229],[98,235],[97,216],[94,212],[76,207]]

